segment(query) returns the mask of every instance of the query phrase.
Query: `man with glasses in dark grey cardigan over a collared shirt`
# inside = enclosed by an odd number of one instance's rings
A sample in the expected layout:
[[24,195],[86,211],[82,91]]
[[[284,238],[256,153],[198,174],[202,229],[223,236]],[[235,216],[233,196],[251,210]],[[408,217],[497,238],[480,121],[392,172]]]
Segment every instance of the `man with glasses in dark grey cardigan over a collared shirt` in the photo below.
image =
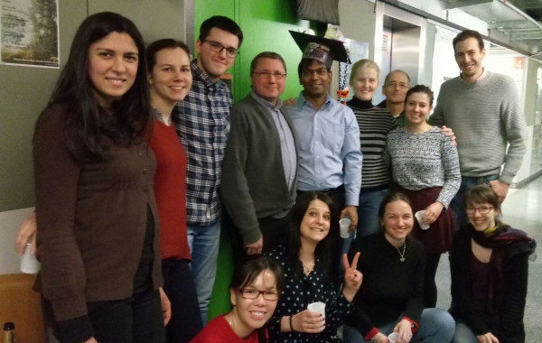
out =
[[250,63],[252,91],[231,108],[220,191],[248,255],[284,242],[285,216],[294,205],[294,126],[279,98],[285,77],[285,61],[279,54],[259,53]]

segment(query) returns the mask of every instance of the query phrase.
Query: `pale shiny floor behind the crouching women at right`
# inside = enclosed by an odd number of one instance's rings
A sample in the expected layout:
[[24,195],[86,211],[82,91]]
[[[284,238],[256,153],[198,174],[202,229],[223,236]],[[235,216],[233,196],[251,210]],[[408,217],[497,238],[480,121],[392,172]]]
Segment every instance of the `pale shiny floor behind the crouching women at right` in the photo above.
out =
[[[525,308],[526,343],[542,341],[542,177],[518,190],[510,190],[502,204],[503,221],[528,232],[537,239],[536,261],[529,262],[527,306]],[[443,255],[436,274],[437,307],[450,305],[450,265]]]

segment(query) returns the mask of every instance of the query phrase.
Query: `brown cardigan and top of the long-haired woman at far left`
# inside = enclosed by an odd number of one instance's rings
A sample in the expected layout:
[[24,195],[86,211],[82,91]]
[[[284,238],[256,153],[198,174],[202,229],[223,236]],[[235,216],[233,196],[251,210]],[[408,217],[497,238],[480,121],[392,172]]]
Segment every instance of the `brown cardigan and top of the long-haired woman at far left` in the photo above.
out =
[[154,154],[143,141],[107,140],[109,159],[78,163],[63,138],[63,118],[63,108],[46,109],[33,139],[42,263],[34,288],[51,301],[57,321],[86,315],[88,301],[132,295],[147,209],[154,215],[154,289],[162,284]]

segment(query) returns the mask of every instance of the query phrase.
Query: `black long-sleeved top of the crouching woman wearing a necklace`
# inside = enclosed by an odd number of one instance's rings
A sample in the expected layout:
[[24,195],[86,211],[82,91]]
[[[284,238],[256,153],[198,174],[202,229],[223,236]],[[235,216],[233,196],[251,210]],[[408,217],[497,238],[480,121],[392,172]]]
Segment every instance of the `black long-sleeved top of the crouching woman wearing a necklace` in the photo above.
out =
[[[357,238],[350,246],[349,260],[360,252],[358,270],[363,273],[360,291],[354,297],[354,311],[347,324],[367,336],[371,329],[388,324],[403,314],[416,323],[423,311],[424,246],[406,238],[405,261],[384,231]],[[416,330],[416,329],[415,329]]]

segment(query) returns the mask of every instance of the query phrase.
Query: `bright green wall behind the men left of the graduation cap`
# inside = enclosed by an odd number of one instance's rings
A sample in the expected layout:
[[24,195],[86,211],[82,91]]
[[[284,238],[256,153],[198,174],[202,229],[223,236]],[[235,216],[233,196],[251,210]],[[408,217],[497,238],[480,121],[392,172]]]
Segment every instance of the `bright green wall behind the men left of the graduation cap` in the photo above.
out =
[[[286,88],[283,99],[297,97],[302,87],[297,77],[297,64],[301,51],[288,30],[308,28],[309,22],[294,15],[294,2],[290,0],[195,0],[194,42],[200,34],[201,23],[212,15],[225,15],[235,20],[243,30],[244,40],[240,53],[229,73],[233,74],[235,101],[250,92],[250,61],[262,51],[275,51],[286,62]],[[209,307],[209,318],[229,311],[229,282],[233,273],[229,235],[222,230],[219,268]]]

